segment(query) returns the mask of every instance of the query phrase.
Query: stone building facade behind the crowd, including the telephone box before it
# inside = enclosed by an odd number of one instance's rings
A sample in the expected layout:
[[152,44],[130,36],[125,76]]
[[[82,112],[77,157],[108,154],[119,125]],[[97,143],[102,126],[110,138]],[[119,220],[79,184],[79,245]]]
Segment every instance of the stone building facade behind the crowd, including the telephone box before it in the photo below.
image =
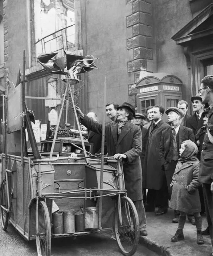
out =
[[[108,102],[145,112],[184,99],[192,112],[191,96],[213,72],[212,15],[213,0],[0,0],[0,90],[16,83],[25,50],[26,96],[60,99],[63,78],[46,73],[35,57],[69,50],[98,58],[99,70],[82,75],[74,90],[76,105],[100,121],[105,77]],[[27,99],[41,123],[60,104]]]

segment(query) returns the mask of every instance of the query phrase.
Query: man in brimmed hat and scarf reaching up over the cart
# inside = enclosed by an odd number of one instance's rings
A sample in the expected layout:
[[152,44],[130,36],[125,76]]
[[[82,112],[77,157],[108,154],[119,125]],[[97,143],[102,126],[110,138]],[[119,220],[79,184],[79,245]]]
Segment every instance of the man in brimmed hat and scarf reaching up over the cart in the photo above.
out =
[[[95,133],[102,133],[102,124],[94,122],[76,107],[80,122]],[[139,126],[131,123],[135,117],[135,108],[130,103],[123,103],[117,108],[117,121],[105,125],[105,138],[108,155],[123,159],[123,171],[127,196],[134,202],[139,215],[140,235],[147,236],[146,216],[142,194],[142,169],[140,154],[142,137]]]

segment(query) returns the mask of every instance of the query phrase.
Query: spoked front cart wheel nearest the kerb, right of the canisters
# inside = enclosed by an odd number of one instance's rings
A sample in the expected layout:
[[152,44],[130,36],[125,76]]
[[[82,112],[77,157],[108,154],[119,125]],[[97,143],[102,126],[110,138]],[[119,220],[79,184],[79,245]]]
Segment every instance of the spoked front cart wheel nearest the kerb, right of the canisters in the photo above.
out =
[[[133,255],[139,242],[139,218],[132,200],[121,198],[121,218],[119,219],[119,206],[115,209],[114,232],[121,253],[125,256]],[[121,223],[122,222],[122,223]]]

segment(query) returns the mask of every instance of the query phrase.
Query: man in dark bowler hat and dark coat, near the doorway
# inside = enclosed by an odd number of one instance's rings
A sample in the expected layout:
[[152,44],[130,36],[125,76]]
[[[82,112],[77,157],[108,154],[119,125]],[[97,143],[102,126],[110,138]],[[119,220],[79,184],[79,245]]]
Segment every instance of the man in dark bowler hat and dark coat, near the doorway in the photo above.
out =
[[204,111],[205,104],[202,101],[201,96],[196,94],[194,97],[191,97],[191,102],[193,104],[194,115],[188,118],[187,127],[193,130],[194,135],[196,134],[197,127],[199,124],[199,128],[203,126],[203,117],[202,113]]

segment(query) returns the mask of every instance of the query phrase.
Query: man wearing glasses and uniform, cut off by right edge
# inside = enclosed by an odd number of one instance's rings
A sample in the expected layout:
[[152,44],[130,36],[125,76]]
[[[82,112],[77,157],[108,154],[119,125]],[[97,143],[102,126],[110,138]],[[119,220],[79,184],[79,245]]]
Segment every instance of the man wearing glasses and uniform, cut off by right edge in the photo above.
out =
[[208,75],[202,79],[199,94],[203,103],[209,104],[209,120],[203,140],[203,150],[201,152],[199,181],[203,185],[206,218],[212,244],[210,255],[213,256],[213,75]]

